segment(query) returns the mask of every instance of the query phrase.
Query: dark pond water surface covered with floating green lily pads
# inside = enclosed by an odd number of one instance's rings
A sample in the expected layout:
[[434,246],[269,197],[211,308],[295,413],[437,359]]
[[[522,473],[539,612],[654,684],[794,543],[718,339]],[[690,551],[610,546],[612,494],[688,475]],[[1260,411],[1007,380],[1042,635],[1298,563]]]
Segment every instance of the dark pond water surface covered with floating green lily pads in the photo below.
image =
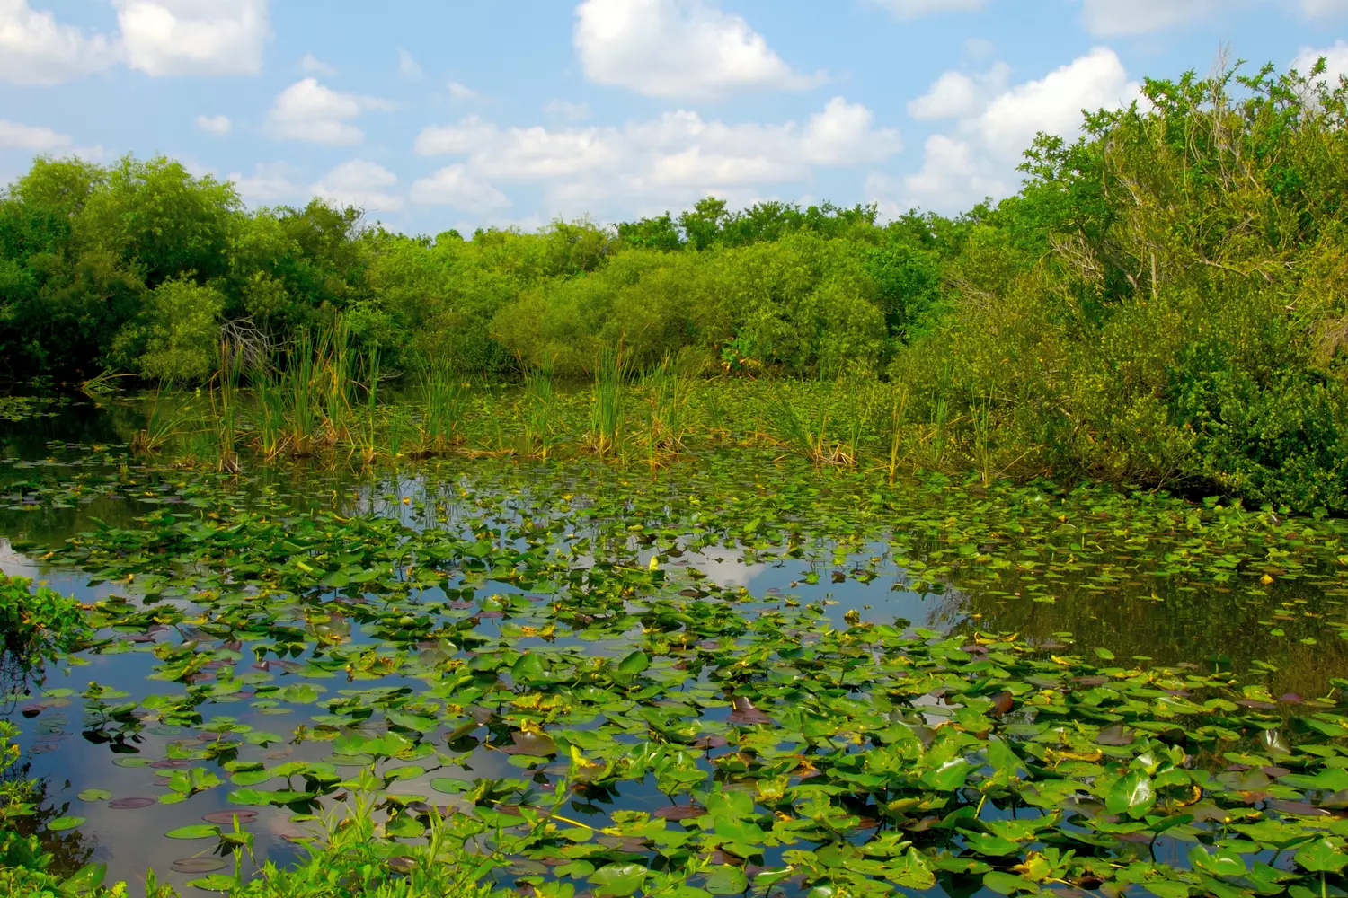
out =
[[0,569],[96,630],[0,665],[61,871],[226,890],[373,801],[392,870],[430,821],[541,894],[1341,894],[1340,521],[756,450],[228,477],[86,408],[0,434]]

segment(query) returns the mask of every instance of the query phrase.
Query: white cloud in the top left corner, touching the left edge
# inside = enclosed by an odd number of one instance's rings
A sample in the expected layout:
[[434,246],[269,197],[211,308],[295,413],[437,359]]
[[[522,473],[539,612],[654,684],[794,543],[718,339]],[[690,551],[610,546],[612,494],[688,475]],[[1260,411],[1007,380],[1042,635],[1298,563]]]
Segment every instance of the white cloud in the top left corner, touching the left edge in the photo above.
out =
[[27,0],[0,0],[0,81],[51,85],[106,69],[116,59],[104,35],[85,36]]

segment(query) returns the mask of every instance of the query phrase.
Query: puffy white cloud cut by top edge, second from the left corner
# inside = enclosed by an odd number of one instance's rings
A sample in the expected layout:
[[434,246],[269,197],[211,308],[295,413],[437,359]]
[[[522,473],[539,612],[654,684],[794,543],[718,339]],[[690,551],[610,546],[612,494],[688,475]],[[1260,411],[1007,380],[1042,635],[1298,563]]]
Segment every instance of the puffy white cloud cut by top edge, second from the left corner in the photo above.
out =
[[127,65],[150,75],[255,75],[267,0],[115,0]]

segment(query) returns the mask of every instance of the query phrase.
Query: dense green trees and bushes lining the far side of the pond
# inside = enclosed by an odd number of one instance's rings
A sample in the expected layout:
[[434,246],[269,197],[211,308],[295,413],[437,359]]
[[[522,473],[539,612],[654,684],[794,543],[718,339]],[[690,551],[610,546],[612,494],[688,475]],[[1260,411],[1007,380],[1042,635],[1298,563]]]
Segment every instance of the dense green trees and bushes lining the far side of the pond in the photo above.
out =
[[407,237],[248,211],[167,159],[38,160],[0,199],[0,366],[205,381],[221,338],[341,316],[381,370],[590,374],[681,349],[728,372],[876,376],[1011,474],[1348,509],[1348,90],[1147,81],[1042,136],[1023,190],[942,218],[716,199],[615,229]]

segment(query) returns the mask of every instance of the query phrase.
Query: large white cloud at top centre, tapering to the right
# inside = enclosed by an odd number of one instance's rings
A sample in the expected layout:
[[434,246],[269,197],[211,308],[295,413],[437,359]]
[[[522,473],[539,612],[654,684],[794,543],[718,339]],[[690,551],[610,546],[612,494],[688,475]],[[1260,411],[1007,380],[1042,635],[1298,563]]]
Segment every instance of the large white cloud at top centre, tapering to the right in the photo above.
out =
[[744,19],[701,0],[584,0],[576,16],[576,50],[596,83],[652,97],[717,97],[821,81],[794,73]]

